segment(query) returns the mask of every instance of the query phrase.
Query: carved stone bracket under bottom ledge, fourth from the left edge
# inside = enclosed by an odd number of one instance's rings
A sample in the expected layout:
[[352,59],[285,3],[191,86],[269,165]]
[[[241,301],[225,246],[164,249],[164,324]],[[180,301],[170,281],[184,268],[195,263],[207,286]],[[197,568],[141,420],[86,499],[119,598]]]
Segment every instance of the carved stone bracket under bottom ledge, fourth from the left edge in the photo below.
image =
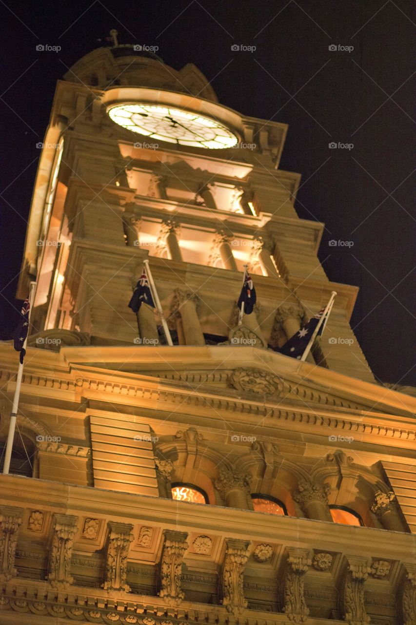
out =
[[184,599],[181,590],[182,564],[188,548],[187,532],[164,530],[164,544],[159,562],[159,596],[167,603],[179,605]]

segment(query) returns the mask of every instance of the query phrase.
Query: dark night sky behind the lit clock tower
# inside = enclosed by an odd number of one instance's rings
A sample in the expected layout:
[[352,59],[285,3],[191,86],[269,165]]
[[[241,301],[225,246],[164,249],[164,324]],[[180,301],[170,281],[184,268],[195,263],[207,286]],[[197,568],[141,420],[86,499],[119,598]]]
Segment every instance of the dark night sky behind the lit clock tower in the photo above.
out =
[[[220,103],[289,124],[280,169],[302,174],[299,216],[325,222],[319,257],[329,279],[360,287],[352,327],[364,354],[377,379],[415,384],[413,2],[1,4],[1,339],[11,336],[20,307],[14,294],[36,143],[56,81],[116,27],[119,42],[159,46],[176,69],[196,64]],[[37,44],[62,49],[38,52]],[[234,52],[232,44],[257,49]],[[354,50],[329,51],[331,44]],[[331,141],[354,148],[329,149]],[[354,246],[330,247],[330,239]]]

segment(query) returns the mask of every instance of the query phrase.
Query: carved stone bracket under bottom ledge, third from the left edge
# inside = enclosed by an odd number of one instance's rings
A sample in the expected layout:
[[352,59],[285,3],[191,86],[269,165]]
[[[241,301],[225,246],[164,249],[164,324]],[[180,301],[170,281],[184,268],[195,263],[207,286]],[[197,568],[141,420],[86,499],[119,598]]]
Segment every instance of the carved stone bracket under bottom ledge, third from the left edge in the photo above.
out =
[[133,539],[133,526],[127,523],[108,523],[109,537],[106,553],[104,590],[130,590],[127,579],[127,556]]

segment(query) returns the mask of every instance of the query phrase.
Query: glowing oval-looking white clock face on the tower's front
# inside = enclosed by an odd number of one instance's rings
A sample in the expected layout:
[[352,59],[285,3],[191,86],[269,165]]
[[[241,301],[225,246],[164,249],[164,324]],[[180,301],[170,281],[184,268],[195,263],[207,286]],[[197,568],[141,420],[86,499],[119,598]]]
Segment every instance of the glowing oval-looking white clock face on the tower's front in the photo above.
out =
[[232,148],[238,139],[228,128],[197,113],[155,104],[120,104],[108,111],[119,126],[152,139],[192,148]]

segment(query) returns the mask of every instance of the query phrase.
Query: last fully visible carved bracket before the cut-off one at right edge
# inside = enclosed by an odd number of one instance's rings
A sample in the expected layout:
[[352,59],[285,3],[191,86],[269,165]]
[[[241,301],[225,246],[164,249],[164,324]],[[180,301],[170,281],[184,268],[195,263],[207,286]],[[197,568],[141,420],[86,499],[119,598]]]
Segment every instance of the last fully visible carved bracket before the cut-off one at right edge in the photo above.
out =
[[364,582],[369,576],[370,567],[366,557],[346,556],[347,568],[340,593],[342,619],[349,625],[367,625],[364,604]]

